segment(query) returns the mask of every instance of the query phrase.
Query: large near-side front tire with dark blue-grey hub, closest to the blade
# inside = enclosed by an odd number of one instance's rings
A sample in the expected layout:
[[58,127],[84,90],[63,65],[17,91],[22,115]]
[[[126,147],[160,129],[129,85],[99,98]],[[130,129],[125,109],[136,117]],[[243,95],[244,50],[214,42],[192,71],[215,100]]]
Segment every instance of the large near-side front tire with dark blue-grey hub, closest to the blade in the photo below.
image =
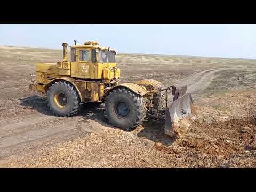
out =
[[131,90],[118,88],[106,98],[105,115],[111,125],[130,130],[146,117],[146,103],[143,97]]

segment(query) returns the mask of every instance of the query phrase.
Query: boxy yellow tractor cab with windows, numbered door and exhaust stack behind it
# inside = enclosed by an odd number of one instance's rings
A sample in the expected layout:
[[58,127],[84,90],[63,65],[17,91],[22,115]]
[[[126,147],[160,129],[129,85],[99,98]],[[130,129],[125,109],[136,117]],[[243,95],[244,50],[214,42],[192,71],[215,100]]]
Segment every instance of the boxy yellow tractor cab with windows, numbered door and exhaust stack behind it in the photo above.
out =
[[[63,46],[63,62],[66,61],[67,44]],[[70,46],[70,75],[86,79],[118,79],[120,70],[116,67],[116,52],[110,47],[101,47],[98,42],[87,41],[83,45]]]

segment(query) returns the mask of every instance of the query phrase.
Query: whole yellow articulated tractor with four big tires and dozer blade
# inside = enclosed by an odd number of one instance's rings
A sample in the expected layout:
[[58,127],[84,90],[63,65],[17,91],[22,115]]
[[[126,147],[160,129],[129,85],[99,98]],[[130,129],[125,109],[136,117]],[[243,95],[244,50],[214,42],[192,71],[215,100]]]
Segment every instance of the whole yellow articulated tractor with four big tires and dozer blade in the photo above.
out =
[[[98,106],[105,103],[105,117],[114,126],[133,129],[145,118],[165,124],[165,134],[182,137],[197,118],[187,86],[164,87],[153,79],[118,84],[116,51],[87,41],[83,45],[62,43],[63,61],[37,63],[36,80],[29,89],[42,92],[53,115],[75,115],[83,103]],[[173,102],[168,103],[168,90]]]

